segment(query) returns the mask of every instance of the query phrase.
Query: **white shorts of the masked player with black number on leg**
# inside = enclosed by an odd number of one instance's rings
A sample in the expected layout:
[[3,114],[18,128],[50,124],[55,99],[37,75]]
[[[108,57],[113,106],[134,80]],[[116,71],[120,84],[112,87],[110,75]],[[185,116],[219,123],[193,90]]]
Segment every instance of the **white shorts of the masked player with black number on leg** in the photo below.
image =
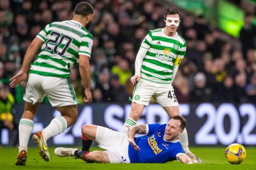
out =
[[134,87],[132,101],[148,106],[152,96],[161,106],[178,106],[178,101],[171,84],[160,84],[140,79]]

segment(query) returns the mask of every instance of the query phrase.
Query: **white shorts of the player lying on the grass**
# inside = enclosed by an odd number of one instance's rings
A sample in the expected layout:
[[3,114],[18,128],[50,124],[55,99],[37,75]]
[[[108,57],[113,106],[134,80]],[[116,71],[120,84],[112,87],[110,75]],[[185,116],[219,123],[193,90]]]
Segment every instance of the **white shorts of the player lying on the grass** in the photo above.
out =
[[130,163],[127,134],[98,126],[95,142],[106,150],[110,163]]

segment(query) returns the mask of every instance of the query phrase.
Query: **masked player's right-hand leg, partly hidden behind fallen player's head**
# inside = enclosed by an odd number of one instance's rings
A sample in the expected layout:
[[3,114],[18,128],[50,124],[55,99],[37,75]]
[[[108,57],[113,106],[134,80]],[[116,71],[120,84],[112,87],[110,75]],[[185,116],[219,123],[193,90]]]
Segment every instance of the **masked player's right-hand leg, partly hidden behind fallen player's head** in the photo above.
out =
[[[180,115],[178,106],[163,106],[163,109],[167,112],[170,118],[175,115]],[[183,133],[179,135],[179,141],[185,153],[193,160],[193,162],[201,163],[201,159],[198,158],[195,154],[193,154],[189,150],[189,139],[188,139],[188,133],[186,128],[184,128]]]

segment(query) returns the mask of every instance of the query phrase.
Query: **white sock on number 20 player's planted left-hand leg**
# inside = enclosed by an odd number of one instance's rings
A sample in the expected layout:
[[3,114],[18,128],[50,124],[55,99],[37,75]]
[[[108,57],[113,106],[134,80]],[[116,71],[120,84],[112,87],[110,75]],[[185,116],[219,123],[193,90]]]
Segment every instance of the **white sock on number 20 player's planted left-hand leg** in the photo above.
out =
[[28,150],[28,140],[33,131],[34,121],[30,119],[21,119],[19,123],[19,153],[22,150],[27,152]]

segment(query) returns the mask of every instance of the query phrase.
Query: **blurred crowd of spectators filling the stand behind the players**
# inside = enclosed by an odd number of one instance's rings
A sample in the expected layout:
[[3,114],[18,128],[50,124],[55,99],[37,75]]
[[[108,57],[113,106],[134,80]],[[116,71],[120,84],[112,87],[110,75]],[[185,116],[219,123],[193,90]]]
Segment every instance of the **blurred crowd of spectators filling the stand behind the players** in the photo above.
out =
[[[71,20],[79,1],[0,0],[0,81],[4,85],[20,69],[33,38],[50,22]],[[128,103],[140,43],[149,30],[165,27],[163,12],[172,4],[158,0],[90,3],[95,12],[89,29],[94,36],[90,59],[93,101]],[[187,53],[173,82],[178,102],[255,103],[256,27],[250,15],[245,15],[240,38],[235,39],[209,26],[202,16],[181,12],[178,33],[187,41]],[[78,66],[72,69],[70,80],[83,102]],[[16,103],[22,102],[25,86],[9,89]]]

